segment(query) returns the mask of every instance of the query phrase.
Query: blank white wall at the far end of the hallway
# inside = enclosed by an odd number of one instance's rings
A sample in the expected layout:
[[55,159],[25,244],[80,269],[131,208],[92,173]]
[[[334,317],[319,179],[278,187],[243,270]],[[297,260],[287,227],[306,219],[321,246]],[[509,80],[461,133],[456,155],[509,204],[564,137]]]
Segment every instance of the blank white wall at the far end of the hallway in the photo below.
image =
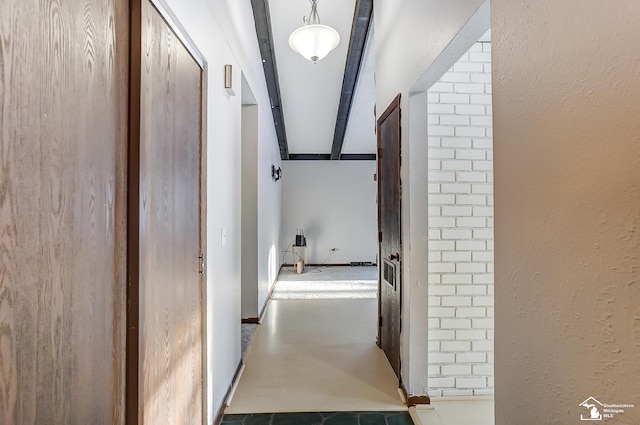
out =
[[[376,261],[375,161],[285,161],[282,170],[281,250],[296,229],[307,238],[307,262]],[[332,248],[337,251],[332,255]],[[291,255],[283,261],[291,264]]]

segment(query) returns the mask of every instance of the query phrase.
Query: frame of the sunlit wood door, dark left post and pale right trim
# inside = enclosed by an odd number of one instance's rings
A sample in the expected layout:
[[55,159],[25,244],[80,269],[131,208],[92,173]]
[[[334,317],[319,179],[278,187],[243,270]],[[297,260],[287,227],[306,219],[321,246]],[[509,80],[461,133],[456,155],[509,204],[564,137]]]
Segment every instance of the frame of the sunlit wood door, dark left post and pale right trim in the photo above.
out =
[[178,37],[200,67],[200,303],[202,329],[202,421],[208,418],[207,385],[207,93],[209,66],[195,41],[182,26],[165,0],[132,0],[130,2],[130,76],[129,76],[129,148],[127,170],[127,317],[125,423],[138,424],[139,417],[139,355],[140,355],[140,99],[142,79],[142,4],[148,1]]

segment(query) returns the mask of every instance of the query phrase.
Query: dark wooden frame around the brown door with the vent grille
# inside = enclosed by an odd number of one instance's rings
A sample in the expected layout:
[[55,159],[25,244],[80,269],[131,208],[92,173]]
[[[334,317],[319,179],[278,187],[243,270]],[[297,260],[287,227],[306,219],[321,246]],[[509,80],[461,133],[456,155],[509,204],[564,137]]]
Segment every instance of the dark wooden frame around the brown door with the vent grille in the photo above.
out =
[[[384,259],[382,258],[382,226],[381,226],[381,221],[380,221],[380,215],[381,215],[381,202],[380,202],[380,183],[381,183],[381,168],[380,168],[380,158],[381,158],[381,153],[382,153],[382,146],[381,146],[381,131],[380,131],[380,127],[381,124],[389,117],[389,115],[391,115],[391,113],[393,113],[396,109],[398,109],[398,130],[400,131],[400,139],[399,139],[399,146],[398,146],[398,153],[400,155],[399,158],[399,162],[400,162],[400,168],[399,168],[399,174],[398,174],[398,186],[399,186],[399,204],[398,204],[398,208],[399,208],[399,214],[398,214],[398,220],[399,220],[399,226],[400,226],[400,232],[398,234],[398,238],[400,240],[400,255],[402,256],[403,253],[403,238],[402,238],[402,176],[401,176],[401,170],[402,170],[402,114],[401,114],[401,93],[398,93],[398,95],[396,95],[396,97],[391,101],[391,103],[389,104],[389,106],[387,106],[387,108],[384,110],[384,112],[380,115],[380,117],[377,119],[376,121],[376,134],[377,134],[377,148],[378,148],[378,164],[377,164],[377,180],[378,180],[378,194],[377,194],[377,199],[378,199],[378,335],[377,335],[377,340],[376,340],[376,344],[378,345],[378,347],[380,349],[382,349],[382,285],[383,285],[383,279],[382,279],[382,267],[384,264]],[[399,384],[402,384],[402,257],[399,259],[399,267],[398,267],[398,275],[399,277],[397,278],[397,283],[398,283],[398,293],[399,293],[399,298],[400,298],[400,305],[399,305],[399,312],[400,312],[400,335],[398,335],[398,341],[400,344],[399,347],[399,357],[398,357],[398,382]]]

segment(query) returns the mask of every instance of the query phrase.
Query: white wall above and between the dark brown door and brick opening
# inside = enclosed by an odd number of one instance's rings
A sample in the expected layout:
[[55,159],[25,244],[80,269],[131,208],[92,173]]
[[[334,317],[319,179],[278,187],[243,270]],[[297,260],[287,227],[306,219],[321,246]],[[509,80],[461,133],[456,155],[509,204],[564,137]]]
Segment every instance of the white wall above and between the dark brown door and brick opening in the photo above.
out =
[[[465,27],[467,23],[472,25]],[[398,93],[402,96],[401,373],[410,394],[426,395],[427,128],[422,112],[427,99],[420,93],[489,29],[488,4],[483,0],[375,2],[374,25],[378,116]]]

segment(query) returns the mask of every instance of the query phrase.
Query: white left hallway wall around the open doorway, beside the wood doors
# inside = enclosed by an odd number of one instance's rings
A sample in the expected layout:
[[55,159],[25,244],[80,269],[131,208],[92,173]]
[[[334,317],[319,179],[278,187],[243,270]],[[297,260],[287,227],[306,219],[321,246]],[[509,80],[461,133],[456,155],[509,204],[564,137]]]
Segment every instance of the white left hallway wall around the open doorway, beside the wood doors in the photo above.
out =
[[[241,70],[259,104],[260,176],[269,170],[270,179],[279,155],[250,2],[166,3],[208,62],[207,412],[212,423],[240,362]],[[223,88],[226,64],[234,68],[236,96]],[[259,188],[265,222],[259,223],[258,244],[264,252],[266,246],[279,246],[280,187]]]

